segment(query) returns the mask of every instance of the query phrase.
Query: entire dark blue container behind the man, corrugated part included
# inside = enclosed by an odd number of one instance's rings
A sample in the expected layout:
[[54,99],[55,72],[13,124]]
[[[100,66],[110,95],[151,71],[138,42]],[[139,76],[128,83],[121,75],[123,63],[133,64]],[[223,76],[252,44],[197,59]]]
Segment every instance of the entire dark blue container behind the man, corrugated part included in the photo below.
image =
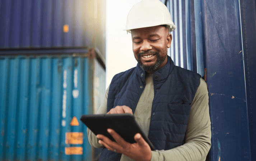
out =
[[162,2],[177,26],[169,51],[174,63],[202,76],[207,69],[209,160],[255,160],[256,2]]

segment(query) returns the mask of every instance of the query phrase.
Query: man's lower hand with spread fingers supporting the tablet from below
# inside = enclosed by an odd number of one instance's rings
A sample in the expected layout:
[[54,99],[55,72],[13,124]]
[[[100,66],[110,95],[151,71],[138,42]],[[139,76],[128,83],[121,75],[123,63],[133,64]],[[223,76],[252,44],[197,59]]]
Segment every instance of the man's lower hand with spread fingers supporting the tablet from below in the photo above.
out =
[[122,153],[127,157],[136,161],[150,161],[152,157],[151,149],[148,143],[143,139],[140,133],[134,135],[136,143],[126,142],[118,133],[108,128],[108,133],[115,139],[116,142],[111,141],[108,137],[98,134],[96,137],[99,143],[105,146],[108,150]]

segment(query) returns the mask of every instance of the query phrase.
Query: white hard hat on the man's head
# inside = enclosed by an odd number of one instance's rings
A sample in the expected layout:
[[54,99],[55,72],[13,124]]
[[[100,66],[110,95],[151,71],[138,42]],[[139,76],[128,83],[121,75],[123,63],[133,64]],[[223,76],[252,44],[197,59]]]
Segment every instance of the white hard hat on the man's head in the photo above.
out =
[[176,29],[167,7],[159,0],[142,0],[135,4],[126,21],[125,30],[146,28],[158,25],[167,25],[169,32]]

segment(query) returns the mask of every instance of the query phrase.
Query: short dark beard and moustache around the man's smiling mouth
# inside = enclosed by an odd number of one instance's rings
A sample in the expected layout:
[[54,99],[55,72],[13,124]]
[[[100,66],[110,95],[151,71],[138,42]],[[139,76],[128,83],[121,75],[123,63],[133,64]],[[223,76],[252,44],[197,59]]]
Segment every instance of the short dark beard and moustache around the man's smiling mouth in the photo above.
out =
[[[140,60],[140,57],[141,55],[143,54],[156,54],[157,55],[157,61],[155,62],[155,64],[152,64],[152,65],[144,65],[141,60]],[[162,57],[161,55],[159,54],[159,52],[142,52],[142,53],[138,53],[137,54],[137,62],[138,64],[140,65],[140,68],[142,70],[145,70],[145,71],[148,71],[148,72],[154,72],[155,70],[157,70],[157,68],[164,62],[164,60],[166,59],[167,57],[167,52],[166,54],[164,54]]]

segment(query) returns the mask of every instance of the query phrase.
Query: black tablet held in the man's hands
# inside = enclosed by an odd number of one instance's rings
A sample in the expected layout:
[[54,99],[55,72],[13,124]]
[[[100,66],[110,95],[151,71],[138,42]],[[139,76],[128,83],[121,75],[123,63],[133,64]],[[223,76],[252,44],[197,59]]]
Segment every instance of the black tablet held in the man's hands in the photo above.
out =
[[83,115],[80,120],[95,134],[102,134],[115,141],[107,132],[108,128],[115,130],[125,141],[135,143],[134,135],[140,133],[144,140],[154,150],[153,144],[141,130],[132,114],[89,114]]

